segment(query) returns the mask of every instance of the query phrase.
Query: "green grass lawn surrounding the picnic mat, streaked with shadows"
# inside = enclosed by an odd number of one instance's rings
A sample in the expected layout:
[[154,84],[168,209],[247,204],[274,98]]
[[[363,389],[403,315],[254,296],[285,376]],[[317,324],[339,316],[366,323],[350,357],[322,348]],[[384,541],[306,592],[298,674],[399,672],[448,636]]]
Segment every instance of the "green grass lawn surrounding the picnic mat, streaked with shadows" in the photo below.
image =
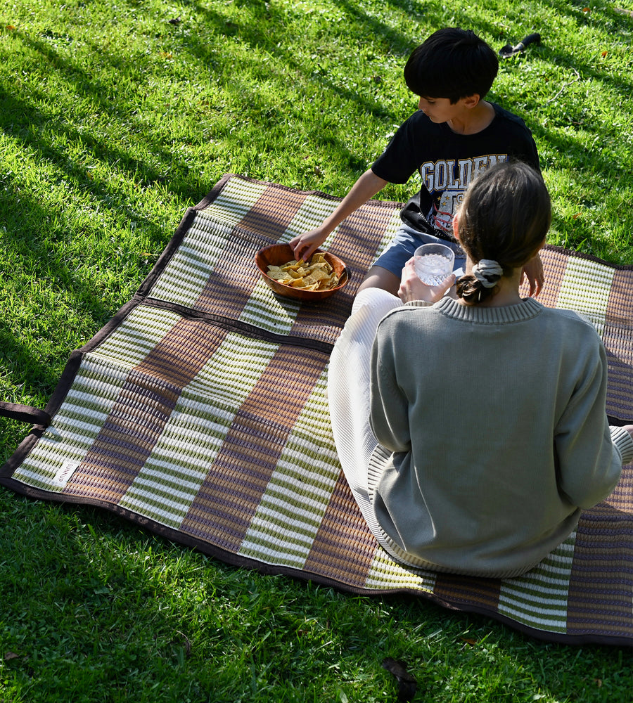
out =
[[[633,264],[633,0],[8,0],[0,399],[44,407],[222,174],[345,195],[416,108],[409,52],[447,25],[495,50],[541,32],[489,97],[535,136],[550,241]],[[4,458],[26,432],[0,421]],[[0,516],[0,702],[384,702],[385,657],[419,701],[630,700],[630,649],[261,576],[5,489]]]

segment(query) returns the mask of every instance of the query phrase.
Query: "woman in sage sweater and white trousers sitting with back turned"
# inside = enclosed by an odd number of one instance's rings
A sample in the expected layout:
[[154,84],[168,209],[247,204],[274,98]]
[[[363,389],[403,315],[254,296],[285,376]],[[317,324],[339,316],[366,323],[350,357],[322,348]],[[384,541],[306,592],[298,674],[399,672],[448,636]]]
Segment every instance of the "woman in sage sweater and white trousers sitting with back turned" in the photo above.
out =
[[[609,427],[607,363],[592,325],[519,294],[551,221],[541,177],[504,163],[473,181],[454,221],[456,297],[407,262],[399,298],[354,302],[328,397],[345,477],[400,562],[473,576],[534,567],[633,460]],[[404,304],[403,304],[404,303]]]

